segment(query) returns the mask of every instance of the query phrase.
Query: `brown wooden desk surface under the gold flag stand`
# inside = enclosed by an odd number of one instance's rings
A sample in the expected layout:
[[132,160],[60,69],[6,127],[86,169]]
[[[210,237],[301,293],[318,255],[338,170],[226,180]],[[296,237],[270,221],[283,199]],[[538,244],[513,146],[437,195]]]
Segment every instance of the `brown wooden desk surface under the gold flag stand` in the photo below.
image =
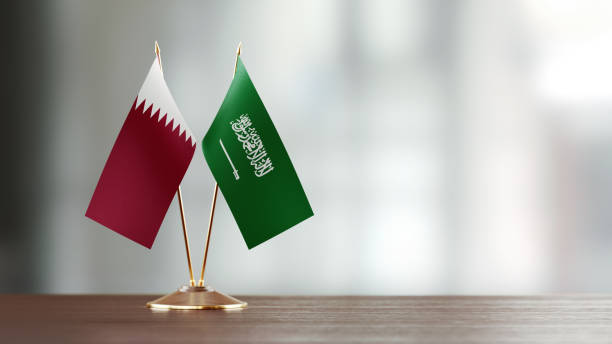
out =
[[610,343],[612,296],[239,296],[153,311],[142,295],[0,295],[2,343]]

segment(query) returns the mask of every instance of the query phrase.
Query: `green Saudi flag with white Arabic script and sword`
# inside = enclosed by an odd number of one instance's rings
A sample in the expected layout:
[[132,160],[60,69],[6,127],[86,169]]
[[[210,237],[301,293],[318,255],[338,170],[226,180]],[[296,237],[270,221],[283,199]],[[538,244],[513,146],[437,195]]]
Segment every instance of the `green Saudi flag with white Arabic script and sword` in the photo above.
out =
[[202,149],[249,248],[313,215],[285,146],[239,57],[234,80]]

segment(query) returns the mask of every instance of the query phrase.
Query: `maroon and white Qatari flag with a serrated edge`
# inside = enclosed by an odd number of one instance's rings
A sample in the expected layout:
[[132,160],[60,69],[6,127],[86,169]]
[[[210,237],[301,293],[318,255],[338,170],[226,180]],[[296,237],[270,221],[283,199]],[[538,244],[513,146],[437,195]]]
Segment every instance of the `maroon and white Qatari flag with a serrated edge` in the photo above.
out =
[[156,57],[85,216],[151,248],[195,151]]

